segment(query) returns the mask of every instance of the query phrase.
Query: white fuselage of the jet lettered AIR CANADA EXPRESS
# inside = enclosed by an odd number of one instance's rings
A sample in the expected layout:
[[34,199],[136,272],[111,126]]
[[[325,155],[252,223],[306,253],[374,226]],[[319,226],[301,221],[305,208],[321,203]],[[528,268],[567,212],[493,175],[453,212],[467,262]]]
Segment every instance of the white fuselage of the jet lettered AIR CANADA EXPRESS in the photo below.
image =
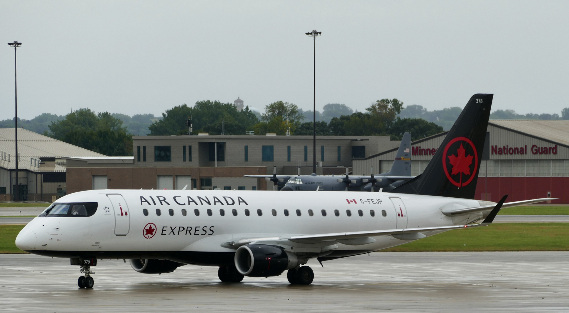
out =
[[[449,205],[477,207],[480,205],[477,200],[382,192],[93,190],[72,193],[56,201],[88,202],[97,203],[96,212],[89,217],[36,217],[18,234],[18,248],[46,256],[97,258],[146,255],[159,258],[160,253],[170,252],[234,253],[234,249],[224,246],[225,242],[240,238],[451,226],[482,217],[481,213],[459,218],[442,214]],[[288,210],[288,216],[284,210]],[[435,233],[426,233],[432,234]],[[392,236],[374,239],[375,242],[365,245],[337,244],[334,251],[354,250],[353,254],[358,254],[409,242]],[[349,255],[349,251],[344,254]],[[210,263],[189,259],[185,262]],[[217,264],[212,261],[211,265]]]

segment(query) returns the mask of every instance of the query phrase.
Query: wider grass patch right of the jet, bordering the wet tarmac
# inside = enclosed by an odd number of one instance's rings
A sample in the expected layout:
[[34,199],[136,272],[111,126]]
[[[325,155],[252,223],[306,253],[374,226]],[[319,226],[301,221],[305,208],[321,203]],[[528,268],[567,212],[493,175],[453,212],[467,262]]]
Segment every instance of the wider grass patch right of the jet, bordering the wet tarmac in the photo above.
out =
[[383,251],[567,251],[569,223],[504,223],[450,230]]

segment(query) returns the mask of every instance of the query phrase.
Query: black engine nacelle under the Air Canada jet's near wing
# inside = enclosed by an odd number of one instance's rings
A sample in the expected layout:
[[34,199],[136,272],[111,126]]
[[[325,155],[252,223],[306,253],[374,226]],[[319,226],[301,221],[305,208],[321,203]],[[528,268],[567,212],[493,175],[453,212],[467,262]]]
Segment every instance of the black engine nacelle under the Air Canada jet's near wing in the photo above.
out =
[[286,252],[279,246],[249,244],[240,246],[235,253],[237,271],[249,277],[278,276],[298,263],[294,253]]

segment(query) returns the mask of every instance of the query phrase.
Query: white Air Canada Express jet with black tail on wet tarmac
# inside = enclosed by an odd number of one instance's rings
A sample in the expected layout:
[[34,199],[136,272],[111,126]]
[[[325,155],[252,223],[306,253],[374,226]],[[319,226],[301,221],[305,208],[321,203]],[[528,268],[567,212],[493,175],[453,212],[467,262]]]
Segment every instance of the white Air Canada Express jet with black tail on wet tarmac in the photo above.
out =
[[[26,252],[70,258],[93,287],[97,260],[135,271],[218,267],[224,282],[287,271],[310,284],[305,264],[356,256],[451,229],[485,226],[505,203],[473,200],[492,94],[475,94],[422,175],[392,192],[91,190],[61,197],[16,238]],[[304,265],[304,266],[303,266]]]

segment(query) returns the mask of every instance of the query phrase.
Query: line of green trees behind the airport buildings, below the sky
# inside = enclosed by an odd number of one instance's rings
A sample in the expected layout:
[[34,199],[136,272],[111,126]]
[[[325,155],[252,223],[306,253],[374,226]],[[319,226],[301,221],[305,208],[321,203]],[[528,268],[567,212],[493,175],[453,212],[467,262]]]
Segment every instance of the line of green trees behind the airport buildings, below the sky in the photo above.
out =
[[[401,139],[410,131],[413,140],[448,130],[459,116],[461,108],[428,111],[420,105],[408,105],[397,98],[373,102],[365,112],[354,112],[344,104],[327,104],[316,111],[317,135],[389,135]],[[514,110],[496,110],[494,119],[569,120],[569,108],[558,114],[516,114]],[[207,132],[219,135],[244,135],[252,130],[255,135],[276,133],[284,135],[312,135],[312,111],[303,111],[289,102],[275,101],[259,114],[248,106],[239,111],[232,103],[197,101],[195,105],[174,106],[162,113],[135,114],[95,113],[79,109],[65,116],[44,113],[32,120],[19,120],[18,126],[43,133],[97,153],[119,156],[132,155],[133,135],[181,135],[188,133],[185,121],[193,119],[193,134]],[[14,127],[14,119],[0,121],[0,127]]]

